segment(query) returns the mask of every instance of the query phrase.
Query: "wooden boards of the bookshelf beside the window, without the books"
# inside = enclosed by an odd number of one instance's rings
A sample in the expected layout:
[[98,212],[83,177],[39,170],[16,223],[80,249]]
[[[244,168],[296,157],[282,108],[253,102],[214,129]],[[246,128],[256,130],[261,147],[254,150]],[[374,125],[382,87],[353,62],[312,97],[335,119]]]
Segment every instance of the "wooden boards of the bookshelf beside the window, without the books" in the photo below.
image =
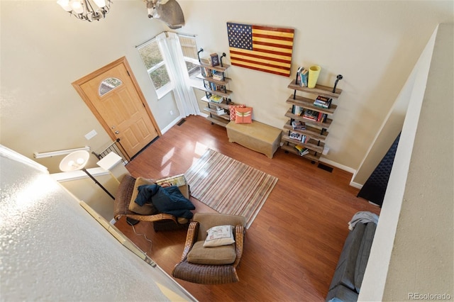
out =
[[[230,67],[230,65],[223,65],[221,66],[211,66],[209,64],[205,64],[204,62],[199,62],[196,63],[201,69],[201,74],[198,74],[196,77],[197,79],[202,80],[202,85],[201,86],[196,86],[197,89],[200,89],[201,91],[205,91],[205,96],[201,98],[201,101],[206,102],[206,107],[204,108],[204,111],[209,113],[209,116],[206,118],[207,120],[211,121],[211,124],[216,124],[216,125],[221,125],[223,127],[226,127],[228,122],[230,121],[230,112],[229,112],[229,105],[233,105],[234,103],[231,101],[230,97],[233,91],[228,90],[226,87],[229,82],[231,82],[231,79],[226,77],[225,72]],[[209,71],[217,71],[222,73],[222,80],[214,79],[211,74],[206,74],[206,70]],[[211,87],[211,83],[215,85],[221,85],[224,87],[223,90],[214,90]],[[209,98],[211,95],[217,95],[221,96],[223,100],[221,103],[217,103],[214,101],[211,101]],[[218,114],[216,111],[216,107],[223,108],[224,111],[226,111],[225,114]]]

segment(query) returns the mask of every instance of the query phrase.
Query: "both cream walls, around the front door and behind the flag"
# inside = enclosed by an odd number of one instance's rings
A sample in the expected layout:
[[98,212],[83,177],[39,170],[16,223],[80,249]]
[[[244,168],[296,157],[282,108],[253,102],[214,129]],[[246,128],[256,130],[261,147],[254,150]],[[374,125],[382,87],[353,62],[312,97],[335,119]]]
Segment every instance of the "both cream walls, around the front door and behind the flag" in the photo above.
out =
[[[327,145],[327,160],[357,169],[436,25],[453,20],[453,1],[189,1],[179,3],[204,55],[226,52],[226,22],[295,29],[292,70],[322,67],[319,84],[344,79]],[[111,13],[87,23],[54,1],[0,1],[1,143],[33,152],[110,141],[71,86],[126,55],[159,127],[177,112],[172,96],[157,100],[135,45],[168,30],[145,15],[143,1],[114,1]],[[281,128],[290,78],[231,67],[232,99],[254,108],[254,118]],[[92,140],[84,135],[96,130]],[[57,159],[45,162],[56,167]],[[92,167],[92,166],[90,166]],[[50,172],[58,172],[57,169]]]

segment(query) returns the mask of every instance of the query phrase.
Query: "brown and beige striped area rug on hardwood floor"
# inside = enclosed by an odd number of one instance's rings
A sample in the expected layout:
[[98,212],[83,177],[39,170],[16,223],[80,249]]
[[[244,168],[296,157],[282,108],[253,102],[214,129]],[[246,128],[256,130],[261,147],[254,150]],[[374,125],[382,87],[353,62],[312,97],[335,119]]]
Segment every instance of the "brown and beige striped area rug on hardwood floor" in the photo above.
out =
[[245,228],[253,223],[277,183],[277,177],[211,149],[184,176],[194,198],[219,213],[245,216]]

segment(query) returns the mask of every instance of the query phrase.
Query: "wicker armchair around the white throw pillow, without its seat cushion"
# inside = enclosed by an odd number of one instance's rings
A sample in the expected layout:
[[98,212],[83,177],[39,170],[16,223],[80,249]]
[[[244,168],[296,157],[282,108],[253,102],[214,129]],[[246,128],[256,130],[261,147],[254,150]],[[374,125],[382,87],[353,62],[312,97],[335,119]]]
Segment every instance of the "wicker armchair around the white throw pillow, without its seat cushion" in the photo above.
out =
[[[175,265],[172,276],[178,279],[198,284],[226,284],[238,282],[236,267],[243,255],[245,235],[245,218],[218,213],[195,213],[194,221],[189,224],[186,243],[181,261]],[[206,230],[216,225],[233,225],[235,237],[236,259],[232,264],[194,264],[188,262],[188,254],[197,241],[206,239]],[[206,247],[212,249],[213,247]],[[214,247],[216,249],[216,247]]]

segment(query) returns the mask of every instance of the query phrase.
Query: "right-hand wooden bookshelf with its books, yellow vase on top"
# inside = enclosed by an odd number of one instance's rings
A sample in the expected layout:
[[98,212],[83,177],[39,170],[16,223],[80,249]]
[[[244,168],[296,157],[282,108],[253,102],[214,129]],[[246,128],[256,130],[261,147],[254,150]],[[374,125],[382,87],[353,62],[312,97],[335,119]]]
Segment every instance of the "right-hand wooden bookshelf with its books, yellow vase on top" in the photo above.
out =
[[289,121],[283,128],[282,149],[318,162],[337,108],[332,102],[338,99],[342,90],[333,92],[333,87],[322,85],[309,88],[300,86],[296,80],[287,87],[294,93],[286,101],[292,107],[285,113]]

